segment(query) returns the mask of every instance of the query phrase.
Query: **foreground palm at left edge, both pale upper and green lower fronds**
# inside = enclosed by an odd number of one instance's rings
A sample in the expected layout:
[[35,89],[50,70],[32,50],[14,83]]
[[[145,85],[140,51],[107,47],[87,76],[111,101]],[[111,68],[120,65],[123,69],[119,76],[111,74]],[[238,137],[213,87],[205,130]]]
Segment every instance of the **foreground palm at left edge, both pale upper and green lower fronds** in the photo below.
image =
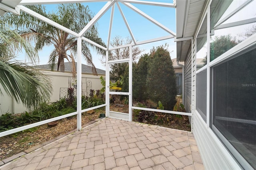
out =
[[45,75],[14,60],[16,52],[22,49],[32,62],[37,61],[34,48],[0,20],[0,85],[17,103],[21,101],[31,109],[50,98],[52,86]]

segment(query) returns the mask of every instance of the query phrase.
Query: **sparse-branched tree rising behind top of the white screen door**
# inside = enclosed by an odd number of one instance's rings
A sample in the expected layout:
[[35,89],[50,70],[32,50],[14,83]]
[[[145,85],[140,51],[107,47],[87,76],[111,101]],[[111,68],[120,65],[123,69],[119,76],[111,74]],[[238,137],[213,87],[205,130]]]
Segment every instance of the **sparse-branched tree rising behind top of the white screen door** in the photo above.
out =
[[[125,44],[132,43],[132,39],[126,37],[122,39],[120,36],[116,36],[112,42],[110,42],[111,47],[118,47]],[[138,46],[132,47],[132,59],[133,61],[138,59],[138,56],[143,50],[141,50]],[[118,59],[128,59],[129,58],[129,47],[114,49],[109,52],[108,60],[118,60]],[[102,58],[102,63],[105,64],[104,57]],[[116,63],[110,66],[110,79],[117,81],[120,78],[120,75],[124,75],[125,69],[128,63]]]

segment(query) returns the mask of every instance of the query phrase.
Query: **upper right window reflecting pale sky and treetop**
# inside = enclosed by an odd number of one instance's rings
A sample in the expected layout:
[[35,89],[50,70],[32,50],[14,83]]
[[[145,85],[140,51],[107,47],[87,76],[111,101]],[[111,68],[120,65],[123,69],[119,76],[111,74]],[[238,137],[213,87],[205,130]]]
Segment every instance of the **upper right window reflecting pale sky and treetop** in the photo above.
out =
[[[256,31],[256,0],[213,0],[210,5],[210,61],[213,61]],[[233,11],[238,10],[234,15]],[[230,16],[230,17],[228,17]]]

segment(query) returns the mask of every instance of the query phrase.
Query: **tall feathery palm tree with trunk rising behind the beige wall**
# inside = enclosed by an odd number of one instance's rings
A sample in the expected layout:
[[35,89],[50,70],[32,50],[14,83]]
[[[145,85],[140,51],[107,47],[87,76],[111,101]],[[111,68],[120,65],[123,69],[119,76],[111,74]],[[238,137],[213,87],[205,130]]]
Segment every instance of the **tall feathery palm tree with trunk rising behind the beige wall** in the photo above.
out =
[[[27,7],[77,33],[80,32],[94,16],[88,6],[83,6],[82,4],[58,4],[58,11],[56,13],[47,13],[45,6],[41,5]],[[42,50],[44,46],[54,45],[55,49],[50,53],[48,61],[52,71],[54,70],[56,63],[58,63],[58,71],[60,69],[61,72],[64,72],[64,59],[67,59],[68,61],[71,59],[72,65],[74,66],[74,57],[77,52],[76,37],[29,16],[24,12],[21,12],[20,16],[9,14],[4,20],[9,24],[13,24],[17,29],[24,30],[22,36],[29,40],[34,40],[36,42],[36,50]],[[102,46],[106,46],[98,36],[96,25],[92,26],[84,36]],[[86,59],[88,65],[92,66],[92,72],[97,75],[96,68],[92,62],[89,46],[95,49],[99,54],[104,54],[105,51],[90,43],[82,41],[83,57]],[[75,75],[75,67],[73,67],[72,72],[73,75]]]

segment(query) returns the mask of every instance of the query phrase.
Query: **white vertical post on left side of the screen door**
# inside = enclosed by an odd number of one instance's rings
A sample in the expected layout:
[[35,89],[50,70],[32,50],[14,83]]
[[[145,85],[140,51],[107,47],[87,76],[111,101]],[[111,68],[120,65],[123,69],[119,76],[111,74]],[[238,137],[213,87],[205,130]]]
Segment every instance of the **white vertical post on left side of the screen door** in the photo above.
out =
[[105,84],[105,101],[106,101],[106,117],[109,117],[109,64],[108,64],[108,50],[106,51],[106,84]]

